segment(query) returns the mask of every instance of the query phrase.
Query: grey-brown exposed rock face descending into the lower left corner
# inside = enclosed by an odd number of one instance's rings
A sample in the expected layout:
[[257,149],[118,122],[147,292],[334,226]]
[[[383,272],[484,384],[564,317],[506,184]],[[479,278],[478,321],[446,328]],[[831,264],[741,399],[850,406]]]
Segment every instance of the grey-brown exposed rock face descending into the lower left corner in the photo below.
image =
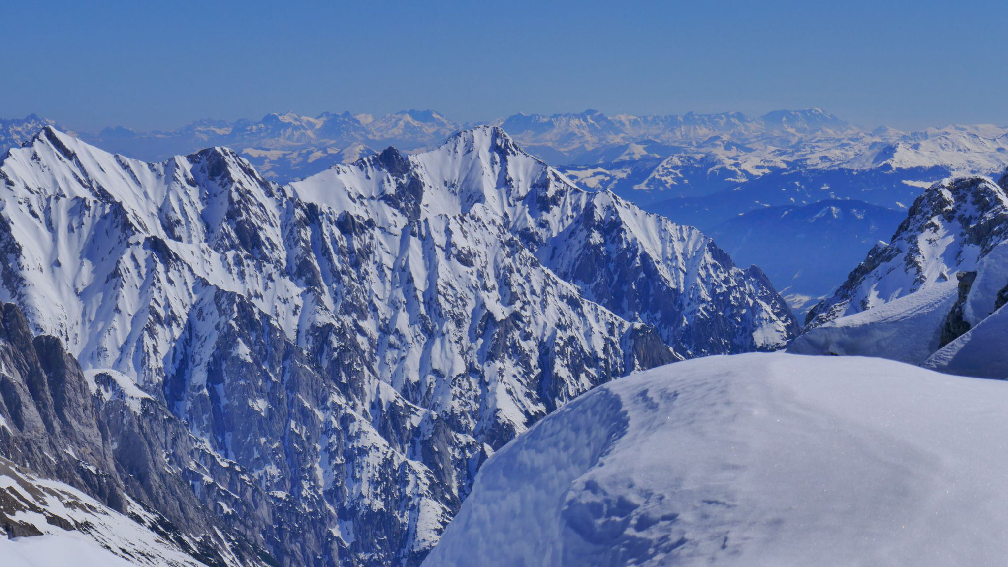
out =
[[[265,499],[240,469],[218,462],[163,405],[131,382],[123,383],[124,376],[85,374],[58,339],[32,337],[17,307],[4,304],[0,311],[0,454],[9,459],[0,459],[0,474],[33,496],[25,500],[9,490],[0,493],[0,525],[8,536],[39,535],[32,515],[41,515],[49,525],[90,533],[111,546],[108,534],[101,534],[100,523],[90,517],[110,517],[107,512],[58,487],[37,486],[18,470],[27,468],[78,488],[146,528],[150,539],[160,538],[169,549],[133,544],[155,558],[173,549],[207,565],[270,561],[263,545],[269,527],[256,523],[254,516],[218,516],[207,505],[248,511],[250,501]],[[212,498],[209,502],[194,491],[198,485],[203,496]],[[47,503],[53,498],[60,503]],[[67,506],[86,513],[85,519],[78,522],[74,514],[58,512]],[[19,516],[22,512],[27,516]],[[129,559],[137,553],[110,549]]]

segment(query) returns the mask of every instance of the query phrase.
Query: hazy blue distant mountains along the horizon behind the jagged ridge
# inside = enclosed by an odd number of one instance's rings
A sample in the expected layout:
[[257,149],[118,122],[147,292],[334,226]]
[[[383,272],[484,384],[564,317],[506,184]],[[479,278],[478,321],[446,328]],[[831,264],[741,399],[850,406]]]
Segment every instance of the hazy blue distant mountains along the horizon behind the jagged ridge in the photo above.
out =
[[[579,187],[611,191],[648,212],[718,234],[726,242],[731,227],[742,222],[733,220],[752,211],[780,207],[817,211],[822,207],[816,209],[816,203],[836,206],[844,200],[858,202],[851,207],[862,211],[905,211],[936,181],[990,176],[1008,163],[1008,127],[867,131],[814,108],[758,117],[737,112],[609,116],[587,110],[515,114],[489,122]],[[20,145],[52,124],[34,115],[0,121],[0,144]],[[406,153],[424,151],[470,126],[432,110],[410,110],[385,116],[268,114],[259,121],[200,120],[172,131],[116,127],[73,135],[148,161],[208,146],[231,147],[265,179],[285,183],[352,163],[388,145]],[[757,217],[766,218],[746,218]],[[784,223],[774,229],[775,237],[793,243],[831,241],[831,253],[844,261],[862,256],[875,237],[872,231],[855,232],[856,238],[836,239],[836,224],[823,222],[800,228]],[[817,255],[802,249],[803,244],[792,250],[789,263],[757,255],[761,260],[757,263],[767,266],[774,284],[786,288],[794,301],[822,298],[832,291],[825,288],[826,272],[813,281]],[[744,245],[737,250],[747,255]],[[801,263],[805,261],[812,263]],[[795,279],[799,273],[804,275]]]

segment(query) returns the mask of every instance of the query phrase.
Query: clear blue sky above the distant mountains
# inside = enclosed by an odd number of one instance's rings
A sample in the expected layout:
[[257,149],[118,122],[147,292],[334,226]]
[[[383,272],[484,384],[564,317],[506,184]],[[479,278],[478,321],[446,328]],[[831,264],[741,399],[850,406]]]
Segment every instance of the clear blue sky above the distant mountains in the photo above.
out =
[[4,0],[0,117],[818,106],[868,126],[1006,124],[1006,21],[1008,4],[969,0]]

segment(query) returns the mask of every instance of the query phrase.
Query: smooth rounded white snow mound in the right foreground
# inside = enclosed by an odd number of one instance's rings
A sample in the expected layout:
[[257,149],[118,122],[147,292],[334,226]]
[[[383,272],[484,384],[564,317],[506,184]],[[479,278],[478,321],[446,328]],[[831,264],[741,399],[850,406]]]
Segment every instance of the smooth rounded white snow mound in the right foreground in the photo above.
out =
[[495,454],[424,566],[1002,565],[1008,383],[714,356],[610,382]]

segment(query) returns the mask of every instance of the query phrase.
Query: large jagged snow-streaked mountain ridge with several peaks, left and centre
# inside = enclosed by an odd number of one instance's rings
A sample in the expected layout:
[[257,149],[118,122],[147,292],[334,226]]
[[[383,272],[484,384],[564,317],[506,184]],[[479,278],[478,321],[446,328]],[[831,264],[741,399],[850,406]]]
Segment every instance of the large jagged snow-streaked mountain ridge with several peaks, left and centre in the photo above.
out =
[[282,565],[416,564],[557,406],[797,330],[758,268],[488,126],[286,187],[226,148],[149,163],[46,128],[0,185],[0,296],[156,418],[130,435],[204,524],[152,508]]

